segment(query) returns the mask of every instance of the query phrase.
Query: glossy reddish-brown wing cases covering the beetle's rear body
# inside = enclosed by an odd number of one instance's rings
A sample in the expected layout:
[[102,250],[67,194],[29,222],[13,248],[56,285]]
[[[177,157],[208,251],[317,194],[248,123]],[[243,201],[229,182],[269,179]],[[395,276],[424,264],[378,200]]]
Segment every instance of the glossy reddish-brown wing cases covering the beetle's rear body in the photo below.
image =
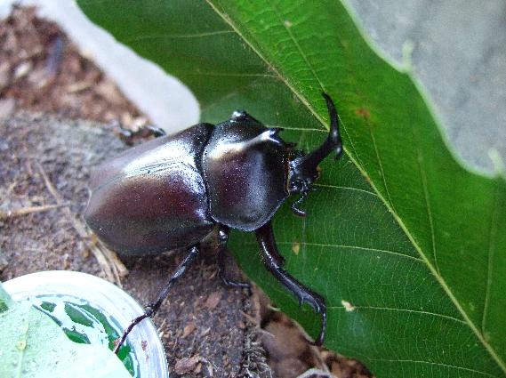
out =
[[88,225],[117,253],[194,245],[213,229],[200,157],[213,125],[128,149],[92,174]]

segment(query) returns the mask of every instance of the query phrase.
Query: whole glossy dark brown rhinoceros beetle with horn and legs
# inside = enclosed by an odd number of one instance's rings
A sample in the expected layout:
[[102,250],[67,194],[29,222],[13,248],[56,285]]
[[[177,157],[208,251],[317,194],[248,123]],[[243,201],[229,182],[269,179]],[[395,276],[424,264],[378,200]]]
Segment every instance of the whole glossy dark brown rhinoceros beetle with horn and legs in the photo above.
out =
[[[279,206],[292,195],[301,195],[293,213],[305,216],[298,205],[318,177],[317,165],[332,151],[336,159],[341,157],[337,112],[332,99],[323,95],[330,133],[308,155],[283,141],[278,135],[282,129],[265,127],[245,111],[236,111],[219,125],[194,125],[128,149],[92,174],[84,218],[105,245],[129,255],[188,251],[157,299],[124,330],[116,352],[134,326],[157,312],[173,283],[195,261],[199,242],[215,228],[220,254],[229,229],[255,232],[269,272],[300,304],[308,303],[321,315],[315,343],[323,342],[325,300],[283,269],[271,226]],[[157,129],[157,134],[163,133]],[[247,286],[224,274],[221,278],[228,286]]]

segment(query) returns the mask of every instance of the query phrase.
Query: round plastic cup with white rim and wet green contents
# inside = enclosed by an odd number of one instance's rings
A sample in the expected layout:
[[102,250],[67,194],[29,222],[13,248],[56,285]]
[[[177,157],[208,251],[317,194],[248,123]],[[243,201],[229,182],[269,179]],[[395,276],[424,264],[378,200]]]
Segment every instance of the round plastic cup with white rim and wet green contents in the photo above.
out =
[[[4,283],[14,301],[29,301],[42,310],[74,342],[114,348],[133,318],[143,313],[129,294],[108,281],[86,273],[50,270],[16,277]],[[168,378],[165,350],[151,319],[128,335],[118,353],[135,378]]]

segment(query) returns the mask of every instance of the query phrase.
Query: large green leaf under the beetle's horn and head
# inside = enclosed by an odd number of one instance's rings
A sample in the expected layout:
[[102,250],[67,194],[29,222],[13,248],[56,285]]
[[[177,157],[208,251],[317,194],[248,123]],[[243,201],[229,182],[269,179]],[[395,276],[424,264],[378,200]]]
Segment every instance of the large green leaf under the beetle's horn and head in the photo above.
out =
[[[378,56],[345,1],[78,3],[188,84],[207,122],[248,109],[313,149],[328,92],[347,157],[322,164],[306,219],[286,205],[274,221],[286,269],[325,295],[326,346],[380,378],[506,376],[506,183],[457,162],[407,62]],[[230,245],[316,334],[317,317],[262,268],[254,237]]]

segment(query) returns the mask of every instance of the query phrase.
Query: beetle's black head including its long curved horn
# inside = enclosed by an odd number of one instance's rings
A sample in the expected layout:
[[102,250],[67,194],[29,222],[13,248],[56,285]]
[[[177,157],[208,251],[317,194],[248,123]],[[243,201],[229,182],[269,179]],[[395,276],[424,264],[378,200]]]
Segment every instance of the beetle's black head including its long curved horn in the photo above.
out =
[[288,176],[288,191],[290,194],[301,194],[301,197],[292,205],[292,211],[296,215],[305,216],[306,213],[299,209],[299,205],[308,196],[313,182],[319,176],[318,164],[330,153],[335,151],[336,159],[341,157],[342,141],[339,133],[339,119],[332,99],[323,93],[330,116],[330,130],[326,140],[320,147],[304,155],[301,150],[294,150],[290,160],[290,173]]

